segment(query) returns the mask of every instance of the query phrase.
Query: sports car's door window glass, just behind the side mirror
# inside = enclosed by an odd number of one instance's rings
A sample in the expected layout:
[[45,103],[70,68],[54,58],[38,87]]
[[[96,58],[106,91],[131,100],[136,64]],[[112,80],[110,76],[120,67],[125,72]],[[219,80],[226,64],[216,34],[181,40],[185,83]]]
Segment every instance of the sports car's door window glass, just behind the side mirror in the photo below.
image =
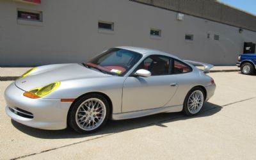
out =
[[152,76],[170,74],[170,58],[166,56],[149,56],[138,67],[151,72]]

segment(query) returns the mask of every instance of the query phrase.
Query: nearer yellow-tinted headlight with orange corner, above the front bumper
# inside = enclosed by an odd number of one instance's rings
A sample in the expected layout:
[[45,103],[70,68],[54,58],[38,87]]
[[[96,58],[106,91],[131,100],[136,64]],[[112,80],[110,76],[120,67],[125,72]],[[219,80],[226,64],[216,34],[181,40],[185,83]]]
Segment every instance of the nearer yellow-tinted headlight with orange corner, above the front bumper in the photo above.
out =
[[31,99],[38,99],[40,97],[44,97],[45,95],[53,92],[60,86],[60,82],[54,82],[51,84],[47,84],[46,86],[34,88],[29,90],[28,92],[23,93],[24,96],[29,97]]

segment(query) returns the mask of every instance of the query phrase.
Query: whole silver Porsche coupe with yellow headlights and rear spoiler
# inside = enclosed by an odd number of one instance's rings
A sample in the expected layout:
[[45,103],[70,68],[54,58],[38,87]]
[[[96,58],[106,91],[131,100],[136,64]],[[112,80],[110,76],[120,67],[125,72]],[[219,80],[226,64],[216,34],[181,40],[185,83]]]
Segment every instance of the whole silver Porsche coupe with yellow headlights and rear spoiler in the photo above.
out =
[[214,80],[205,74],[212,67],[152,49],[115,47],[87,63],[28,70],[6,88],[6,113],[30,127],[69,125],[80,133],[97,131],[108,119],[196,115],[214,94]]

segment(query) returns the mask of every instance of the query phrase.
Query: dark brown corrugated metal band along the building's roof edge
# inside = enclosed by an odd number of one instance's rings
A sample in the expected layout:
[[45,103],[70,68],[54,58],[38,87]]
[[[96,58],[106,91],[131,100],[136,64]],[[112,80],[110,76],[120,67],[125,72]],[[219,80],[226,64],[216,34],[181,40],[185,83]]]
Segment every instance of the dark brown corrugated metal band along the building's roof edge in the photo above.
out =
[[129,0],[256,31],[256,16],[214,0]]

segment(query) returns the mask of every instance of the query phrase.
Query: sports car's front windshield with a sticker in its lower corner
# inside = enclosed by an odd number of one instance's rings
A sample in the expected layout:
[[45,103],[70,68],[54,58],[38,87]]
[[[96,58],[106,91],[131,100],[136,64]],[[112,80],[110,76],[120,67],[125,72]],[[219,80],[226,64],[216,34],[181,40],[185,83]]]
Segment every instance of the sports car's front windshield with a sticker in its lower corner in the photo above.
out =
[[113,48],[102,52],[84,65],[106,74],[124,76],[141,57],[138,52]]

